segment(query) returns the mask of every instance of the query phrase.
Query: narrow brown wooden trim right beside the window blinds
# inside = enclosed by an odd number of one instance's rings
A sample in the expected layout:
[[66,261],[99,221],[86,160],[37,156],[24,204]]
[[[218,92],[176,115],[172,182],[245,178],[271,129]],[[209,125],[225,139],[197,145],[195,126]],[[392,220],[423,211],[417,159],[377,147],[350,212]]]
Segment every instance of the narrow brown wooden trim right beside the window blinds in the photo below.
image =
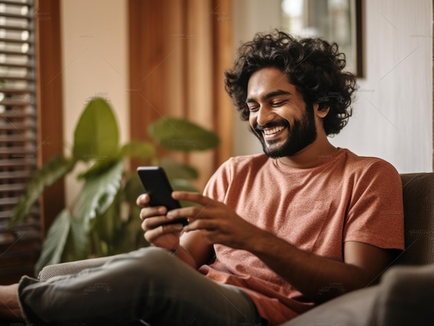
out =
[[[37,66],[38,166],[63,151],[62,44],[60,1],[35,1]],[[40,199],[42,239],[64,208],[64,182],[44,191]]]

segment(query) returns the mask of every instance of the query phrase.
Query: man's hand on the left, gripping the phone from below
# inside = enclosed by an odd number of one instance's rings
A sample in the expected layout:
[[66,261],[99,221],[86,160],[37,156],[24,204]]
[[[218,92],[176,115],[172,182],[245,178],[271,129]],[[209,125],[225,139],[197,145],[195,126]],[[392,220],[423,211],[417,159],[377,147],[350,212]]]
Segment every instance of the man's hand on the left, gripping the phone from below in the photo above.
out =
[[149,195],[141,194],[136,201],[141,207],[141,228],[145,231],[147,242],[167,250],[174,251],[180,246],[182,224],[166,224],[171,219],[166,217],[167,209],[164,206],[150,207]]

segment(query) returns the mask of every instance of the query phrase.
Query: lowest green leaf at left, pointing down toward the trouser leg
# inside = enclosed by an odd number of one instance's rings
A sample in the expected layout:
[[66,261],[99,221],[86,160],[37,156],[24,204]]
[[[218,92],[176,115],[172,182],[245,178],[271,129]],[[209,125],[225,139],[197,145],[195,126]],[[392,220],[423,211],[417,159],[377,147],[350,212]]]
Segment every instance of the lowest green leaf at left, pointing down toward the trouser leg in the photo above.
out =
[[64,209],[55,218],[46,235],[42,252],[35,264],[35,275],[46,265],[58,264],[61,262],[64,246],[67,242],[71,228],[71,214]]

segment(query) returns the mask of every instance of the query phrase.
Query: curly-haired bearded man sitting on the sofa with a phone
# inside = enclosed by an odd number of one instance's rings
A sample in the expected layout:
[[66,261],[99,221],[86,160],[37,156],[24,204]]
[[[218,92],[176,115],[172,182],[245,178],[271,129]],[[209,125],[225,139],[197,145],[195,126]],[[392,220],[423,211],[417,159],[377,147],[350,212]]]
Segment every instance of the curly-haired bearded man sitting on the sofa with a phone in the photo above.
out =
[[[196,206],[167,212],[139,197],[157,248],[24,278],[0,299],[45,323],[278,325],[374,284],[403,249],[401,180],[385,161],[329,143],[351,116],[356,84],[344,67],[336,44],[256,35],[225,75],[265,154],[229,159],[203,194],[173,193]],[[178,217],[189,225],[166,223]],[[83,296],[94,284],[111,291]]]

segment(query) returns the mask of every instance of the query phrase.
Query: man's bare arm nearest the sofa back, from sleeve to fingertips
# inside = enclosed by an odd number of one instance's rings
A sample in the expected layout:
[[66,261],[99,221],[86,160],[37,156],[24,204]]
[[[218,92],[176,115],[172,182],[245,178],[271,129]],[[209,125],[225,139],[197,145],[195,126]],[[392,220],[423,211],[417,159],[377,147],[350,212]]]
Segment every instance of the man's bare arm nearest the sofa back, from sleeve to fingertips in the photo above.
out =
[[377,278],[393,259],[392,251],[361,242],[343,244],[344,262],[303,251],[284,239],[248,223],[225,204],[201,194],[174,192],[175,199],[193,201],[191,206],[168,213],[168,218],[191,217],[184,230],[201,230],[209,244],[224,244],[250,251],[304,296],[322,302],[360,289]]

